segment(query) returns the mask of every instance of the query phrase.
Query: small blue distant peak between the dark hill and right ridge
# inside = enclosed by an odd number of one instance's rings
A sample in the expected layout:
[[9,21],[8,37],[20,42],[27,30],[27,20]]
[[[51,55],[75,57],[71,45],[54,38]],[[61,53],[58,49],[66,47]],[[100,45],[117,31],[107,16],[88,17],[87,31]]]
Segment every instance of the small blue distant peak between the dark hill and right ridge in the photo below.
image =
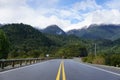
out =
[[41,32],[54,35],[66,35],[66,33],[57,25],[50,25],[47,28],[41,30]]

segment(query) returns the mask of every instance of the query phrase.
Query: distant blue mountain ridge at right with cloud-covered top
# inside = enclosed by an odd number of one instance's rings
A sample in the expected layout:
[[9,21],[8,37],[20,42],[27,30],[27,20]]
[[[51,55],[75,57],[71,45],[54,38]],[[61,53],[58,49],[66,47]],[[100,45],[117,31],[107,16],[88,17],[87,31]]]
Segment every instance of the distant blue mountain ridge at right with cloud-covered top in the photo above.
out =
[[88,28],[70,30],[67,34],[73,34],[84,39],[116,40],[120,38],[120,25],[92,24]]

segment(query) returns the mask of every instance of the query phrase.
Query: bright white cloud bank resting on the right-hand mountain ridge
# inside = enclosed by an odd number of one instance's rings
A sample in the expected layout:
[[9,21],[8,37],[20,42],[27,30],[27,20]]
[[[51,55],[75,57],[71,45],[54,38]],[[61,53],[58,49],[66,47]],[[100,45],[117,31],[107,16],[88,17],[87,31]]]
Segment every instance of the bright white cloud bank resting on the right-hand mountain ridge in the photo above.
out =
[[84,20],[76,24],[71,24],[66,30],[81,29],[88,27],[90,24],[120,24],[120,11],[97,10],[83,15]]

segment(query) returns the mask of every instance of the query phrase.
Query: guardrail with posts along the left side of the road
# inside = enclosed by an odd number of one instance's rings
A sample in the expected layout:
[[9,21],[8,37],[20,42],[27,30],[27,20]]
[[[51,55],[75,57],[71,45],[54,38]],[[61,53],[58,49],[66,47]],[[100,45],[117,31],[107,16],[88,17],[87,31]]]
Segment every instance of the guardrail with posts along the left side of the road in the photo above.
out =
[[25,66],[29,64],[38,63],[43,60],[48,60],[48,59],[47,58],[46,59],[45,58],[9,59],[9,60],[2,59],[0,60],[0,68],[4,70],[4,68],[7,66],[11,66],[11,68],[14,68],[15,65],[18,65],[18,67],[21,67],[23,65]]

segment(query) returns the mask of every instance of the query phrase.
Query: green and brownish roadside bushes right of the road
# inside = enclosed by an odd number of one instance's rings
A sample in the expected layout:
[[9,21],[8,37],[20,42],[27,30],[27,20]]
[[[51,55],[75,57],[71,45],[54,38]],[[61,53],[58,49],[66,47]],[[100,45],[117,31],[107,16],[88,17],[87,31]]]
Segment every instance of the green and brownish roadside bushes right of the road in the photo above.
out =
[[[109,50],[109,51],[108,51]],[[97,56],[89,54],[87,57],[82,58],[83,62],[92,64],[110,65],[120,67],[120,53],[118,49],[108,49],[97,53]]]

